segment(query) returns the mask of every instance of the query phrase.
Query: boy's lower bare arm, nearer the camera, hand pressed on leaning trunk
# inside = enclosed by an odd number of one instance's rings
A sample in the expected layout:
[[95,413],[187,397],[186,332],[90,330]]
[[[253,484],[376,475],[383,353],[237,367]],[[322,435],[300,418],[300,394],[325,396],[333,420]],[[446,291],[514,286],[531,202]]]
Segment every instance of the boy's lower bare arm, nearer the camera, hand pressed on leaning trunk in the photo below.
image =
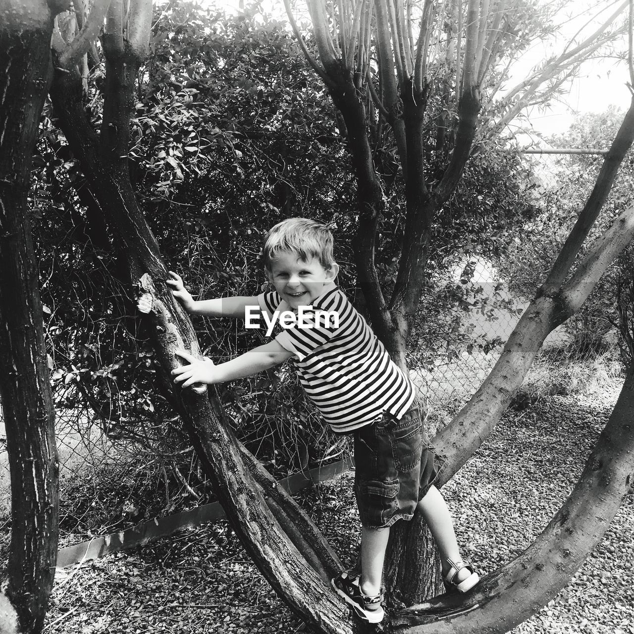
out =
[[211,359],[197,359],[193,354],[184,350],[176,351],[179,357],[189,361],[189,365],[172,370],[174,383],[183,382],[182,387],[190,387],[194,383],[224,383],[235,378],[249,377],[252,374],[268,370],[293,356],[293,353],[271,341],[264,346],[258,346],[248,353],[241,354],[231,361],[214,365]]

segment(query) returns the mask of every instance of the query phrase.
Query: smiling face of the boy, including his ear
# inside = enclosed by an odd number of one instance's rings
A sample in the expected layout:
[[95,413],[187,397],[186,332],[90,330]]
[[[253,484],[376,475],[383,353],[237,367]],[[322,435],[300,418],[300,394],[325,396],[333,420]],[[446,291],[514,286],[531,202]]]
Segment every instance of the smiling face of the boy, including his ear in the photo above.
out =
[[339,266],[333,262],[330,269],[321,266],[316,257],[304,261],[297,254],[282,251],[265,269],[269,281],[292,309],[310,306],[323,292],[323,288],[337,277]]

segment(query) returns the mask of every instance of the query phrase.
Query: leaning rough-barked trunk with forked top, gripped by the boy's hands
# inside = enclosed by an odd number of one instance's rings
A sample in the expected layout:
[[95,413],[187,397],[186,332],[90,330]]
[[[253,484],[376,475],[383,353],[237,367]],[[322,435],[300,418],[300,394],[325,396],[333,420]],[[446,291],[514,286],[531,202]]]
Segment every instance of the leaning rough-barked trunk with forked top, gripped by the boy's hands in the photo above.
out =
[[101,37],[106,76],[99,132],[82,100],[81,74],[70,54],[75,40],[65,44],[58,37],[54,41],[58,68],[50,94],[58,125],[81,165],[94,204],[107,220],[114,248],[126,264],[129,294],[152,296],[152,309],[145,320],[166,391],[169,389],[167,398],[181,414],[236,533],[264,576],[296,612],[322,630],[348,631],[344,608],[332,593],[324,592],[325,579],[340,567],[332,549],[292,498],[277,490],[261,465],[250,455],[242,457],[215,394],[208,398],[207,394],[171,392],[170,372],[177,365],[174,350],[184,348],[193,354],[200,350],[190,320],[164,283],[167,270],[130,179],[134,79],[148,48],[151,13],[146,0],[126,6],[114,0],[108,8]]

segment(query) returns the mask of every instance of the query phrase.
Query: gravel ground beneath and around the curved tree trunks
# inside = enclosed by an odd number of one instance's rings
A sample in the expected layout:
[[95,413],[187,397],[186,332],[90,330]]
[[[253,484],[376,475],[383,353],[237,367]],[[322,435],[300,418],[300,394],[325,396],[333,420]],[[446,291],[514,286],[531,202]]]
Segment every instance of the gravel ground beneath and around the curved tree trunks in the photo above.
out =
[[[444,489],[463,553],[481,573],[522,552],[571,491],[616,400],[544,398],[508,412]],[[342,562],[354,559],[352,475],[302,493]],[[353,526],[353,531],[350,531]],[[634,496],[567,588],[515,634],[634,634]],[[250,563],[226,522],[60,571],[49,634],[294,634],[305,626]]]

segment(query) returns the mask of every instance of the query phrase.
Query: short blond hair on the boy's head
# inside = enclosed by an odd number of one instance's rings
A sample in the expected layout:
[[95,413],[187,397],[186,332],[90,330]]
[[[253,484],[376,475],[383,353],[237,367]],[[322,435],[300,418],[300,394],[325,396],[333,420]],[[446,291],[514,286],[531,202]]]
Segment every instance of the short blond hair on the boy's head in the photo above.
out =
[[332,250],[332,233],[327,226],[308,218],[288,218],[269,231],[261,257],[269,271],[277,254],[283,251],[297,254],[304,262],[316,257],[328,270],[334,262]]

